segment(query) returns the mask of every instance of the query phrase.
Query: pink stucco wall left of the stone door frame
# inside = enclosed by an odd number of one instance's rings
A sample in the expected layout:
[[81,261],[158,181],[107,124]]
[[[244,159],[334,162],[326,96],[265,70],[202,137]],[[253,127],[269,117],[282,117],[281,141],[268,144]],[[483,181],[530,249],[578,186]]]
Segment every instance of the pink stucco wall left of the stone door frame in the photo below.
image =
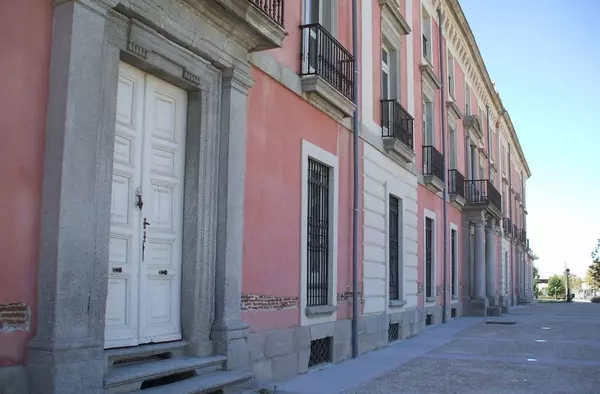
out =
[[0,332],[0,367],[23,363],[35,332],[52,10],[51,0],[0,2],[0,304],[31,308],[27,331]]

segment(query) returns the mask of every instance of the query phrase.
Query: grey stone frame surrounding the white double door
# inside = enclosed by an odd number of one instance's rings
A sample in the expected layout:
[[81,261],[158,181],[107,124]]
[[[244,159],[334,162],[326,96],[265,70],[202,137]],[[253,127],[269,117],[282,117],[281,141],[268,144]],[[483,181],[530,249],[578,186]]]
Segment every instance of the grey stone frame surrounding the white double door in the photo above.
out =
[[250,68],[211,63],[121,5],[115,10],[117,3],[55,2],[38,323],[27,364],[32,393],[103,390],[121,60],[188,92],[181,305],[187,351],[226,355],[228,368],[249,362],[240,298]]

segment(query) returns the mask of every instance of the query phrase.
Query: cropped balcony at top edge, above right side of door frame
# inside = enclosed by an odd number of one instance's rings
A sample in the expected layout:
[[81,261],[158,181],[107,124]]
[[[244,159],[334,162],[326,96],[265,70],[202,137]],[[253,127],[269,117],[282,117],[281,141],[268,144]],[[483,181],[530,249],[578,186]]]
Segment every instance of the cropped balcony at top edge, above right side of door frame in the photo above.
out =
[[[206,2],[216,15],[233,25],[232,35],[247,42],[250,51],[279,48],[286,36],[285,0],[216,0]],[[223,13],[223,8],[227,13]]]

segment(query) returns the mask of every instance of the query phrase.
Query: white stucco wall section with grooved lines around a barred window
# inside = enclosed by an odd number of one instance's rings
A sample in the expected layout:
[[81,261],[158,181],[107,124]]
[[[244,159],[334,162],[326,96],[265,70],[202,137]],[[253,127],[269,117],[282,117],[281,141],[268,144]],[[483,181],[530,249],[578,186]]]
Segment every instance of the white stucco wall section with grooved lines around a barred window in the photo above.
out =
[[[364,145],[364,314],[417,306],[417,178],[371,145]],[[388,300],[388,196],[402,200],[402,308]]]

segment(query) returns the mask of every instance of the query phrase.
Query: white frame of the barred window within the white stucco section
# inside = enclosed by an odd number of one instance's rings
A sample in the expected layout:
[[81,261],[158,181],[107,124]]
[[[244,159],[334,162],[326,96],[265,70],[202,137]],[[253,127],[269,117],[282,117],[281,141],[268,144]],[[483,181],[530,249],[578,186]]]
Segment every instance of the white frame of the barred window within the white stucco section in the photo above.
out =
[[[400,295],[399,300],[390,300],[390,254],[389,254],[389,240],[390,240],[390,195],[396,197],[398,201],[398,294]],[[397,311],[398,308],[406,305],[406,294],[404,290],[406,286],[404,286],[404,251],[406,248],[404,247],[404,224],[405,224],[405,201],[406,201],[406,191],[400,187],[398,182],[390,182],[387,181],[385,183],[385,284],[386,284],[386,312],[389,312],[390,309],[394,309]]]

